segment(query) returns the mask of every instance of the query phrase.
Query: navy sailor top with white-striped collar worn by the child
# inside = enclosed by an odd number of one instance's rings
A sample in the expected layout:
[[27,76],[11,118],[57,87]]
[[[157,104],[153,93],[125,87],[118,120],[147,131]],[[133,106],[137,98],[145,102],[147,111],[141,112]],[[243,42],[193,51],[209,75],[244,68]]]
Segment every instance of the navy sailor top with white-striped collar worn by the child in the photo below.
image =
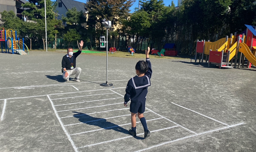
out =
[[148,70],[144,76],[134,76],[128,81],[125,89],[125,104],[131,99],[131,103],[145,100],[147,96],[147,87],[151,86],[150,78],[152,75],[151,62],[146,58]]

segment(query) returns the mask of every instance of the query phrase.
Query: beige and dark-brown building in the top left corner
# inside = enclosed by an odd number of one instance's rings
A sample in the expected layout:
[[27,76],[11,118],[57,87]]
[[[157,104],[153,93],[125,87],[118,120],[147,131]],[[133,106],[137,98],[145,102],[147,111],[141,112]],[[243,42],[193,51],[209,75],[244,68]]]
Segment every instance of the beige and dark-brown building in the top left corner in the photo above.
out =
[[[13,11],[18,17],[22,18],[21,12],[23,11],[23,7],[21,4],[28,3],[27,0],[0,0],[0,12],[3,11]],[[0,14],[1,19],[1,14]],[[0,25],[3,24],[0,21]]]

